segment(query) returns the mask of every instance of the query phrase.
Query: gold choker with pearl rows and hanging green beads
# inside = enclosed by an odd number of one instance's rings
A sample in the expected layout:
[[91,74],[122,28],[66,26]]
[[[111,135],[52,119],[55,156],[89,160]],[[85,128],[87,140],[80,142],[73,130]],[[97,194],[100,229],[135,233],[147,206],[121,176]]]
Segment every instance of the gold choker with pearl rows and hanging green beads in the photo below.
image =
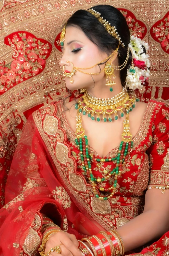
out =
[[[112,114],[115,114],[115,120],[118,119],[118,111],[121,112],[121,117],[123,117],[123,109],[125,109],[128,114],[129,111],[135,108],[135,103],[138,100],[134,92],[128,94],[124,88],[119,94],[108,99],[96,98],[85,92],[84,96],[75,104],[75,108],[79,109],[80,113],[83,112],[84,115],[87,113],[88,117],[91,117],[93,121],[97,120],[99,122],[100,114],[102,114],[104,122],[112,122]],[[97,115],[97,118],[95,118],[95,115]],[[106,115],[108,115],[108,118]]]

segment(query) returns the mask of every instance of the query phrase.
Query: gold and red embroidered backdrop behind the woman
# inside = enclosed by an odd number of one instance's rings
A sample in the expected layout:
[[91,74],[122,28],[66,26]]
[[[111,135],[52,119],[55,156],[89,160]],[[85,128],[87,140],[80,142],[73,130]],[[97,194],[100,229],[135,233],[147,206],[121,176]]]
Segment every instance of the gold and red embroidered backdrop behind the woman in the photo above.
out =
[[[151,77],[142,101],[169,101],[168,0],[0,1],[0,207],[16,145],[28,116],[52,100],[67,97],[59,69],[62,24],[77,9],[113,5],[132,35],[149,43]],[[122,8],[123,7],[123,8]],[[75,92],[76,95],[78,92]]]

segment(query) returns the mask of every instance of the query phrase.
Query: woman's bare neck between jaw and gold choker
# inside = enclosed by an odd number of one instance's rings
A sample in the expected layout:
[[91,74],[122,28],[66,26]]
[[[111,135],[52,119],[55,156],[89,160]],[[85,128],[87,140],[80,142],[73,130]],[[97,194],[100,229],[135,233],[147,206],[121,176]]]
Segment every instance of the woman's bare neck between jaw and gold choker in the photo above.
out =
[[91,96],[96,98],[112,98],[115,95],[119,94],[123,89],[120,76],[116,76],[113,81],[116,84],[112,87],[112,92],[110,92],[110,86],[105,85],[107,82],[105,77],[100,81],[96,82],[93,88],[86,88],[86,90]]

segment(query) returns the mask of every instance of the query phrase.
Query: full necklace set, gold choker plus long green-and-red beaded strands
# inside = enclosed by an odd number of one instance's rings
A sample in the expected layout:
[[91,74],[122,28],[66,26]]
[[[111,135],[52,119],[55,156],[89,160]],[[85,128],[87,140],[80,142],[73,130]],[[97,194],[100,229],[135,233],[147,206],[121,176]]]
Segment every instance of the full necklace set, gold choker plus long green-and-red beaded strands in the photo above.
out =
[[[118,177],[121,176],[121,171],[123,165],[125,164],[127,158],[130,155],[131,148],[133,146],[132,135],[130,133],[129,126],[129,112],[135,107],[136,101],[139,101],[136,98],[135,94],[131,92],[128,94],[124,89],[116,96],[108,99],[95,98],[85,92],[84,96],[81,97],[78,103],[75,104],[77,109],[76,116],[76,139],[75,143],[79,146],[80,157],[82,161],[82,167],[84,172],[87,174],[89,181],[91,182],[94,196],[100,200],[110,199],[116,190]],[[122,142],[119,146],[118,154],[115,158],[94,158],[93,155],[89,154],[88,151],[88,139],[85,135],[85,130],[82,126],[81,113],[85,115],[88,113],[88,116],[92,120],[95,120],[95,114],[97,114],[97,121],[100,121],[100,114],[103,114],[103,121],[106,122],[106,114],[108,115],[108,120],[111,122],[111,115],[115,114],[115,120],[117,120],[117,112],[121,111],[121,117],[124,116],[123,109],[125,109],[126,117],[123,121],[123,133],[122,133]],[[109,162],[116,161],[116,167],[111,171],[107,172],[106,170],[101,170],[102,178],[96,178],[91,169],[91,162]],[[106,173],[105,173],[106,171]],[[105,174],[107,174],[105,176]],[[102,188],[100,183],[102,181],[108,181],[110,177],[114,177],[113,185],[110,188]],[[98,190],[97,190],[98,189]],[[111,192],[108,196],[99,195],[98,191],[108,191]]]

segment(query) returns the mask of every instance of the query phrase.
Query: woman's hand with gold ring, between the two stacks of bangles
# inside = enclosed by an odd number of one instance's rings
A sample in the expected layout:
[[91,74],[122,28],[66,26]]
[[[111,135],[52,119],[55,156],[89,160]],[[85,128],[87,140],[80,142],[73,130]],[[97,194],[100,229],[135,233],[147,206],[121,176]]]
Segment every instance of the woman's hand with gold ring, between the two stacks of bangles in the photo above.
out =
[[[61,245],[60,245],[61,244]],[[82,256],[78,249],[79,242],[77,241],[75,235],[68,234],[65,232],[58,232],[49,237],[45,245],[45,253],[50,251],[51,248],[60,245],[60,253],[56,251],[51,252],[50,255],[53,256]]]

